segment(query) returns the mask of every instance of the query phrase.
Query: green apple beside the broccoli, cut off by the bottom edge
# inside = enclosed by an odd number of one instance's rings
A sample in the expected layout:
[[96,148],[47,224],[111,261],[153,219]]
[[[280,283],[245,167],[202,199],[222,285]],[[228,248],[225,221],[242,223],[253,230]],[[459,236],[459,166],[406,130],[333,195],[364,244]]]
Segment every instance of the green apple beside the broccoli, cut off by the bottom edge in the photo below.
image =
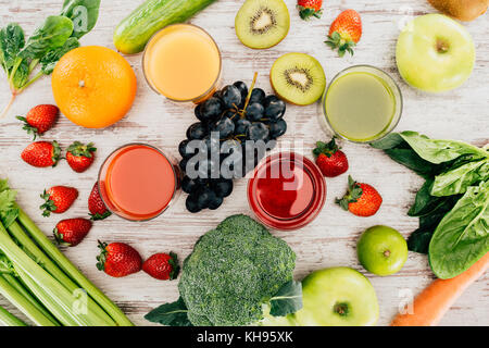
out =
[[303,308],[293,314],[300,326],[367,326],[378,320],[375,289],[362,273],[333,268],[302,281]]

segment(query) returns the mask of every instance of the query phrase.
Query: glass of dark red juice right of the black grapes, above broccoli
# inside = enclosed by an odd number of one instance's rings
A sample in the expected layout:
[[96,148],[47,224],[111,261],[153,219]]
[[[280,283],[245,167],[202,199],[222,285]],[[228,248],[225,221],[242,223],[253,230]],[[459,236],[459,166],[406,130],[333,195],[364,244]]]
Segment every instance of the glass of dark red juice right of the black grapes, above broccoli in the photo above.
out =
[[248,182],[248,201],[265,225],[281,231],[298,229],[323,209],[326,182],[319,169],[294,152],[264,159]]

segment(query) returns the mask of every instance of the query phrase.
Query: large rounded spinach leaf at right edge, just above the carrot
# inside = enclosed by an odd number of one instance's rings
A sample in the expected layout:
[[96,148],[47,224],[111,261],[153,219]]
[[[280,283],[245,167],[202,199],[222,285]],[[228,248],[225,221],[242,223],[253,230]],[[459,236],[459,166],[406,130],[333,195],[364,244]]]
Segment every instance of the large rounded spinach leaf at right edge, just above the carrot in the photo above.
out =
[[429,244],[429,263],[439,278],[452,278],[489,251],[489,182],[468,187],[441,220]]

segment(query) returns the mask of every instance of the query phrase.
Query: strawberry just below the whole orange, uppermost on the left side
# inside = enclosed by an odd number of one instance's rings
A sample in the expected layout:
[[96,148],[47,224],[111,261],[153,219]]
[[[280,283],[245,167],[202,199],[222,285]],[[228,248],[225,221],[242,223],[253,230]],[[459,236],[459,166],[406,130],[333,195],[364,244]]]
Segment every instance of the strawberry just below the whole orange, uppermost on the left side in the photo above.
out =
[[58,120],[59,113],[60,109],[58,107],[41,104],[30,109],[25,117],[17,116],[17,120],[24,122],[23,129],[27,130],[28,134],[33,134],[33,140],[35,140],[36,136],[42,135],[52,128]]

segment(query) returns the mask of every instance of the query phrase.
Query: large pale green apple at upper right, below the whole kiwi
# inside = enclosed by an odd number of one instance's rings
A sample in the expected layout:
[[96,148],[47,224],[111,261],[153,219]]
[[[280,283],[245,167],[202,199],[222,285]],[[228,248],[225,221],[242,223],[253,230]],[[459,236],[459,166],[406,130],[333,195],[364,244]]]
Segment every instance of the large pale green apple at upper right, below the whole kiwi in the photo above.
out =
[[396,60],[408,84],[438,92],[459,87],[468,78],[475,48],[471,34],[461,24],[431,13],[415,17],[403,28]]

